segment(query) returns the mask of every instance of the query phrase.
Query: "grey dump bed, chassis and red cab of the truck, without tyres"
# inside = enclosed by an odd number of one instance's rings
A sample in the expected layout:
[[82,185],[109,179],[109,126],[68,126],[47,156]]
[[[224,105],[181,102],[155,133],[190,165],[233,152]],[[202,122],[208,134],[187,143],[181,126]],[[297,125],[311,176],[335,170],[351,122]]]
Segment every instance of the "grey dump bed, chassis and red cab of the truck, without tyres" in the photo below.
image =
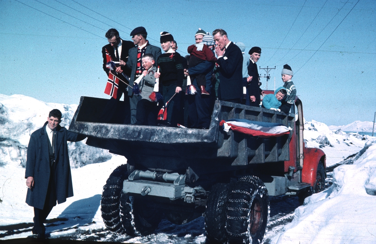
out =
[[[293,113],[286,115],[270,109],[217,100],[207,130],[99,123],[98,115],[106,102],[106,99],[81,97],[69,130],[89,136],[86,142],[88,145],[125,156],[127,174],[122,179],[121,194],[130,196],[129,199],[152,201],[157,211],[164,211],[172,222],[181,222],[176,217],[179,211],[198,213],[194,217],[208,211],[208,201],[214,201],[211,200],[214,197],[210,196],[215,191],[213,186],[225,184],[231,195],[231,189],[240,184],[237,182],[241,177],[252,182],[260,179],[262,182],[259,184],[263,183],[267,189],[266,195],[270,196],[302,195],[317,191],[317,184],[320,184],[318,191],[323,187],[321,178],[325,173],[321,168],[325,169],[326,166],[325,154],[320,149],[304,146],[303,108],[299,98],[295,102],[297,118]],[[235,118],[280,123],[293,130],[289,135],[261,138],[232,130],[224,132],[220,128],[221,120]],[[254,180],[249,176],[258,178]],[[265,201],[262,198],[261,195],[260,203]],[[226,210],[228,225],[229,209],[232,209],[229,206],[230,203]],[[194,219],[193,216],[186,216],[182,219]],[[256,217],[261,218],[263,215]],[[252,220],[250,222],[254,223]],[[259,229],[263,228],[260,223],[255,225]],[[249,236],[252,236],[250,226]],[[133,234],[140,233],[143,234],[137,230]],[[232,232],[227,229],[228,238],[231,236],[229,233]],[[207,236],[212,237],[208,232]],[[213,238],[224,241],[219,237]]]

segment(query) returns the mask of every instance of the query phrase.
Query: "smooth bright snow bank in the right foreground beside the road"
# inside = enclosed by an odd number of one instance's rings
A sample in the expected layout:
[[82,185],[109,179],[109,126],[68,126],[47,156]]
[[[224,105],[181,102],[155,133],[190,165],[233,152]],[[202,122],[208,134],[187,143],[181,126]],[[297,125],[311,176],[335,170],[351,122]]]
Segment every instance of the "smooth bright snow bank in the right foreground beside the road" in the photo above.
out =
[[293,222],[270,243],[376,243],[376,139],[352,165],[334,170],[334,183],[305,200]]

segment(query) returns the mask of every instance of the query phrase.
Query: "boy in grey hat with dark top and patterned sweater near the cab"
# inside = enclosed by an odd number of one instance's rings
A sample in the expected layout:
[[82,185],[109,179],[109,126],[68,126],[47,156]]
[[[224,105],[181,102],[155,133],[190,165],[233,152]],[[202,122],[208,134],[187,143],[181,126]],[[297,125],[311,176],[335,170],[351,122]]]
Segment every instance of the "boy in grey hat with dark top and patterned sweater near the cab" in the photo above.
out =
[[286,88],[287,95],[279,108],[280,111],[285,114],[290,112],[291,107],[294,106],[295,103],[296,88],[293,81],[291,81],[293,75],[294,73],[293,70],[291,70],[291,67],[288,64],[285,64],[282,69],[282,81],[284,82],[283,87]]

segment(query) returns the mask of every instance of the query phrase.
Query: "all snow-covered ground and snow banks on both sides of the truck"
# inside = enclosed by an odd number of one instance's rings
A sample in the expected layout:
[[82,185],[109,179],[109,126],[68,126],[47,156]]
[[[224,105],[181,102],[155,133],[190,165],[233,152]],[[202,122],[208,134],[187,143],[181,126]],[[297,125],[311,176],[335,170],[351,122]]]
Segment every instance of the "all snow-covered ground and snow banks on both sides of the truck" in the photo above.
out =
[[[76,107],[22,95],[0,95],[0,240],[31,235],[33,210],[25,203],[24,179],[30,133],[42,126],[52,108],[64,111],[63,122],[68,126]],[[349,165],[329,172],[328,188],[307,198],[303,206],[299,207],[296,197],[270,198],[265,243],[376,243],[376,139],[332,131],[313,120],[305,123],[304,138],[306,147],[321,148],[326,153],[329,171],[341,164]],[[46,228],[50,238],[205,242],[203,217],[180,226],[164,219],[155,234],[147,237],[132,238],[107,231],[100,216],[102,187],[109,174],[126,159],[82,142],[71,143],[70,154],[74,196],[50,213]]]

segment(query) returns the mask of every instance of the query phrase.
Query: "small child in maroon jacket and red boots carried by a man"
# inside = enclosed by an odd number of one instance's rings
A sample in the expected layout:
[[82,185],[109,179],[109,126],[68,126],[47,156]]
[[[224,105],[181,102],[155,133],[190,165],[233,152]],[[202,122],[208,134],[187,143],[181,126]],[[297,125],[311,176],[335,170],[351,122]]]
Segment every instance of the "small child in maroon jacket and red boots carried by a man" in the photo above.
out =
[[[196,32],[196,36],[202,35],[203,33],[205,33],[205,31],[199,28],[199,31]],[[214,45],[215,42],[213,36],[209,32],[207,32],[205,36],[202,38],[202,42],[188,46],[188,53],[191,54],[188,62],[188,68],[194,67],[199,63],[205,62],[206,60],[215,63],[217,61],[217,58],[215,57],[214,52],[212,51]],[[191,75],[190,78],[191,80],[196,78],[197,85],[199,86],[201,91],[201,95],[210,95],[206,91],[206,78],[204,70],[200,74],[194,76]]]

